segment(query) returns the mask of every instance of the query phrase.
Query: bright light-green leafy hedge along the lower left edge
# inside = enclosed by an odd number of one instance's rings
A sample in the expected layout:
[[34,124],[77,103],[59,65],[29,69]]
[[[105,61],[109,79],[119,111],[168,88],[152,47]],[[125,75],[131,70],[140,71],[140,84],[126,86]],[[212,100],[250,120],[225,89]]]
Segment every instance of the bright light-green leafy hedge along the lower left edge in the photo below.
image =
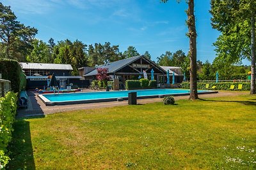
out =
[[17,110],[17,94],[7,92],[4,97],[0,97],[0,169],[3,169],[10,158],[5,153],[7,146],[12,139],[12,124],[15,120]]

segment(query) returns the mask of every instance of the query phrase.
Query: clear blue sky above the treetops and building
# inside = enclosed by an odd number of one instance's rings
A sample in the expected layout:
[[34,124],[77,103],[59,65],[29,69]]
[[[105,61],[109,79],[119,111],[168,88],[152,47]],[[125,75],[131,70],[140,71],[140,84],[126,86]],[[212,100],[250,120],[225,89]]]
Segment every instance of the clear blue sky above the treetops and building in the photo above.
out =
[[[94,44],[109,41],[124,52],[135,46],[156,60],[166,51],[188,53],[185,1],[159,0],[2,0],[21,23],[38,29],[36,38],[47,42],[79,39]],[[212,62],[212,43],[219,32],[211,28],[210,0],[195,0],[197,59]]]

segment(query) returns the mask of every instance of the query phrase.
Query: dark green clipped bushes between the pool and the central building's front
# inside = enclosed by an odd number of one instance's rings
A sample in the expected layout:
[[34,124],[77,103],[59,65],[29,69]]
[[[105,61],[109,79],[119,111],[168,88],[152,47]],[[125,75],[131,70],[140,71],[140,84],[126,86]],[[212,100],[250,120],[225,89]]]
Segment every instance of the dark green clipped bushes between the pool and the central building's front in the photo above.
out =
[[156,88],[156,80],[147,80],[145,78],[141,78],[140,80],[126,80],[125,81],[125,89],[147,89],[147,88]]

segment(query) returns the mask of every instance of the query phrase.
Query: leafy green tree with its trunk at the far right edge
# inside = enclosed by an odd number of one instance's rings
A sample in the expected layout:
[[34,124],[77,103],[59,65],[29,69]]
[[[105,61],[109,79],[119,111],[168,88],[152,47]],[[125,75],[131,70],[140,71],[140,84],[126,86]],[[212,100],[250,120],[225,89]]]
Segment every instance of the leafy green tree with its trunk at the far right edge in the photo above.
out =
[[227,63],[251,60],[250,94],[255,94],[255,10],[254,0],[211,0],[212,27],[221,32],[214,43],[217,60]]

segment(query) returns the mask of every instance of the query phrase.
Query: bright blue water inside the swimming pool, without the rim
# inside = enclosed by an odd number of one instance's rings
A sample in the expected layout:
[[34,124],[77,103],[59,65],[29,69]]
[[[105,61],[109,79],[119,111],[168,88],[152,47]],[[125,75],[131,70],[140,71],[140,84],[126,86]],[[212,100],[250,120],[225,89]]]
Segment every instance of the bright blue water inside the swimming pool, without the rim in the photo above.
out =
[[[97,99],[116,99],[128,97],[129,92],[137,92],[137,97],[143,96],[158,96],[158,95],[173,95],[173,94],[189,94],[189,90],[178,89],[148,89],[148,90],[124,90],[113,92],[86,92],[74,94],[44,94],[43,96],[51,102],[64,101],[84,101]],[[205,92],[198,90],[198,92]]]

